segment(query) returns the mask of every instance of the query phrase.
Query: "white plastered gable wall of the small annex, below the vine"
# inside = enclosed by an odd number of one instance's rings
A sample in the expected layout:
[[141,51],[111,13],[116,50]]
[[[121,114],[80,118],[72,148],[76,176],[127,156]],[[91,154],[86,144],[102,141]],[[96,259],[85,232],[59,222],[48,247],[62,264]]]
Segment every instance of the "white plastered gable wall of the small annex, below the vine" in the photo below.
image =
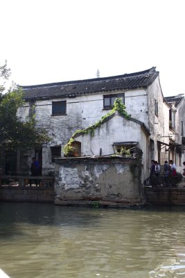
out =
[[[138,147],[143,149],[141,132],[141,124],[127,120],[125,117],[116,113],[114,117],[96,128],[93,136],[91,133],[85,133],[77,136],[75,140],[82,143],[82,156],[91,156],[92,154],[99,156],[100,149],[102,149],[102,155],[105,156],[114,154],[112,147],[114,142],[136,141],[139,142]],[[143,138],[145,142],[146,136]]]

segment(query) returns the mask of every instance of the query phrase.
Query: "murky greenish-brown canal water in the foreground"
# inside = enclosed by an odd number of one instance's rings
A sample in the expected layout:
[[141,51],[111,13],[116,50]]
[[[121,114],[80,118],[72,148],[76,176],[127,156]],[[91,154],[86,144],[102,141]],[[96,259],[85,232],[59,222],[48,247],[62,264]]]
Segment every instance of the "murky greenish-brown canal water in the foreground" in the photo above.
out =
[[185,208],[0,204],[10,278],[185,277]]

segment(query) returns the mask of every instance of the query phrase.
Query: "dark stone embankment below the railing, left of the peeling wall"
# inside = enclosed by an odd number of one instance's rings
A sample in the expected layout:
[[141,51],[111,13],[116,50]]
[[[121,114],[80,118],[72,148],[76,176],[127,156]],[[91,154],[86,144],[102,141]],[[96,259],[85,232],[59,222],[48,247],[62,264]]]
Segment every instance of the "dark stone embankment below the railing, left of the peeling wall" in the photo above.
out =
[[0,201],[53,203],[53,188],[29,188],[24,186],[1,186]]

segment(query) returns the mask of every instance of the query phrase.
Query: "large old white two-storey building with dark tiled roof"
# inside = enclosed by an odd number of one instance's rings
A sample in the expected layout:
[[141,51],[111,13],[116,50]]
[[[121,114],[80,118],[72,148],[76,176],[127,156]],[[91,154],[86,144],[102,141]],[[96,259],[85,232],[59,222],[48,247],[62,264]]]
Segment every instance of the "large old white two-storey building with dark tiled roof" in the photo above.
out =
[[[107,147],[107,142],[109,145],[116,141],[138,142],[143,150],[146,177],[149,173],[150,160],[158,161],[161,157],[166,157],[166,148],[170,142],[168,137],[170,105],[164,100],[159,72],[155,67],[120,76],[22,88],[26,94],[26,104],[19,109],[19,116],[25,120],[29,113],[35,113],[38,126],[47,129],[52,140],[32,152],[19,153],[17,161],[21,163],[17,162],[17,171],[28,170],[32,156],[37,156],[42,161],[42,174],[53,171],[54,158],[63,156],[62,147],[73,133],[95,124],[111,111],[117,97],[122,99],[132,120],[124,127],[123,118],[116,115],[110,120],[111,124],[105,123],[101,131],[105,138],[103,142],[102,138],[97,142],[94,139],[93,153],[99,155],[100,149],[102,155],[113,152],[113,149]],[[115,136],[112,126],[117,131]],[[148,131],[144,140],[141,132],[137,132],[139,129],[141,131],[143,126]],[[87,155],[85,145],[82,146],[81,155]]]

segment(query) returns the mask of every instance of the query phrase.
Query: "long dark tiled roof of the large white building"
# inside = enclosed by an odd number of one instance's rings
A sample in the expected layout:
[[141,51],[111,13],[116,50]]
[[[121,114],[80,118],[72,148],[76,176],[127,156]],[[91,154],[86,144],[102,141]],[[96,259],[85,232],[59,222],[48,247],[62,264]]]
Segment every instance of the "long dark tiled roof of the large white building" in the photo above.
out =
[[147,88],[159,75],[155,67],[143,72],[109,76],[97,79],[85,79],[49,83],[42,85],[19,86],[26,93],[26,99],[51,99],[53,97],[76,97],[76,95],[114,90],[132,90]]

